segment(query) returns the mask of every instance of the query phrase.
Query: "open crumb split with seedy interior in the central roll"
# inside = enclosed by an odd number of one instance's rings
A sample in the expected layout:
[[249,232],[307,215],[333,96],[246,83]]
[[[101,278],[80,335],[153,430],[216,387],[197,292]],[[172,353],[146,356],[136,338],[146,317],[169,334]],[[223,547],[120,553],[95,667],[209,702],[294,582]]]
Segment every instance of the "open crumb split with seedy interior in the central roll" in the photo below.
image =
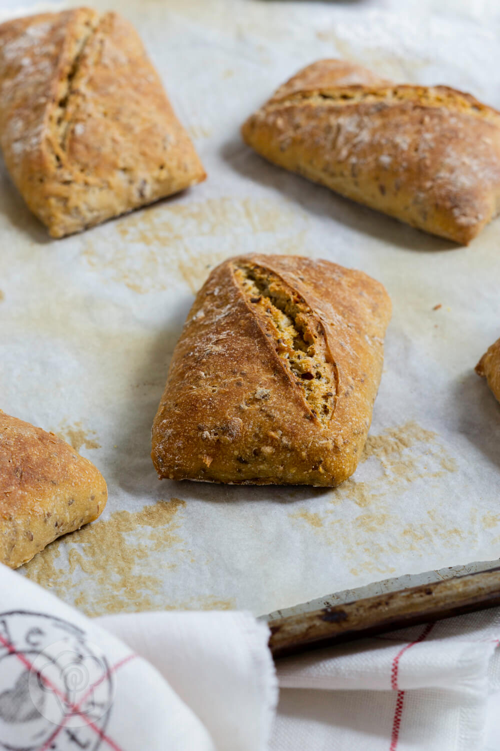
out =
[[235,278],[271,333],[278,357],[300,386],[322,425],[331,418],[337,389],[325,332],[305,300],[279,276],[253,264],[235,267]]

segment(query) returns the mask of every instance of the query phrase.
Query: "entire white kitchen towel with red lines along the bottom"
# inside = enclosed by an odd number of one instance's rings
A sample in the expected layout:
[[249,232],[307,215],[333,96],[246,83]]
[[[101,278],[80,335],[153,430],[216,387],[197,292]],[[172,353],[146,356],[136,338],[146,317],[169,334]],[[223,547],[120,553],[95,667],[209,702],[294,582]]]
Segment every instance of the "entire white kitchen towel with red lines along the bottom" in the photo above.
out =
[[249,614],[90,620],[0,566],[0,749],[500,751],[499,639],[494,609],[280,660],[271,734]]

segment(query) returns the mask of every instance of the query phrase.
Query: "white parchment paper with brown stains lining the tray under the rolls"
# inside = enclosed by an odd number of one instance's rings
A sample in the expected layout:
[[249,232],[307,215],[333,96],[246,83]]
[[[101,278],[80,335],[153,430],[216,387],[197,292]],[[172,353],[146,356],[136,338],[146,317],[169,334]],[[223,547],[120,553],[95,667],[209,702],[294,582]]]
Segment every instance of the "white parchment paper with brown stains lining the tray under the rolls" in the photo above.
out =
[[[265,163],[238,133],[277,85],[321,57],[447,83],[499,107],[499,11],[478,5],[481,14],[466,0],[102,6],[138,27],[208,180],[49,240],[2,173],[1,409],[70,440],[109,484],[101,520],[22,573],[91,615],[261,614],[500,556],[500,409],[473,371],[500,335],[500,219],[458,248]],[[4,16],[20,12],[4,5]],[[193,294],[214,264],[247,251],[328,258],[391,294],[364,461],[337,490],[156,478],[151,423]]]

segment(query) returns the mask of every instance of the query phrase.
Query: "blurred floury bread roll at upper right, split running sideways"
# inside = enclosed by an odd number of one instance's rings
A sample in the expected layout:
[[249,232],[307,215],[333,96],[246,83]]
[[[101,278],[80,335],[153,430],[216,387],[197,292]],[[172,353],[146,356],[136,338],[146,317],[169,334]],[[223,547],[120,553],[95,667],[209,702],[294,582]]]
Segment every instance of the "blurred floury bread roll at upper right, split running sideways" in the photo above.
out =
[[242,127],[269,161],[467,244],[500,210],[500,113],[342,60],[299,71]]

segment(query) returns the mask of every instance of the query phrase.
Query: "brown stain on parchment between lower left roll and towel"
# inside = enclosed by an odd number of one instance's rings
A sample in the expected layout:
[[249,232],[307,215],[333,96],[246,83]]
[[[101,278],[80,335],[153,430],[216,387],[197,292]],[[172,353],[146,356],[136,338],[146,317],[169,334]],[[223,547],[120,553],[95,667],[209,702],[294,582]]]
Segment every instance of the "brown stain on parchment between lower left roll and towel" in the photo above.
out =
[[151,574],[151,553],[184,550],[178,529],[185,505],[172,498],[141,511],[114,511],[50,544],[25,564],[25,575],[61,599],[73,592],[73,604],[88,616],[158,609],[162,574],[175,564],[163,561],[162,571]]

